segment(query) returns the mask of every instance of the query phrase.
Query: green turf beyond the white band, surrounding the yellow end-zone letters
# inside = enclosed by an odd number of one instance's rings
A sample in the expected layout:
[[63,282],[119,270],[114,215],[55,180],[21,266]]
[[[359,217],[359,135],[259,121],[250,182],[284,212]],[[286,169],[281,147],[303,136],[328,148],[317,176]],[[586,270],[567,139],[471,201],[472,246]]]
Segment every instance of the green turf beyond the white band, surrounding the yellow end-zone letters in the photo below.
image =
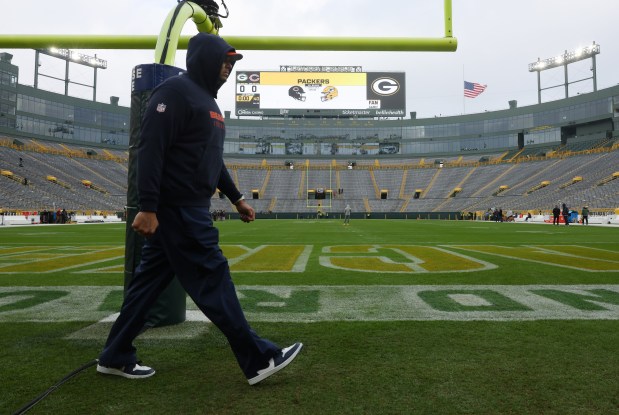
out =
[[[478,273],[427,273],[389,274],[372,276],[355,271],[325,269],[318,257],[321,249],[331,245],[390,245],[409,244],[421,246],[454,245],[454,252],[471,255],[460,249],[461,245],[496,244],[508,247],[516,257],[530,245],[578,245],[610,252],[619,252],[617,230],[605,227],[469,222],[427,220],[357,220],[344,227],[332,220],[263,220],[253,224],[237,221],[218,222],[222,245],[242,244],[250,248],[259,245],[311,245],[313,246],[306,272],[302,277],[294,273],[235,272],[237,284],[257,285],[307,285],[307,284],[606,284],[616,283],[617,273],[592,273],[577,269],[566,271],[551,264],[518,261],[512,258],[476,252],[474,257],[490,261],[497,268]],[[103,246],[110,249],[123,245],[124,225],[70,225],[64,228],[21,227],[2,229],[1,245]],[[225,247],[224,247],[225,250]],[[1,259],[1,257],[0,257]],[[102,265],[122,266],[117,259]],[[88,267],[84,268],[85,270]],[[1,271],[1,270],[0,270]],[[0,272],[0,286],[48,285],[50,277],[55,285],[120,285],[122,272],[110,274],[51,272],[46,274],[6,275]]]

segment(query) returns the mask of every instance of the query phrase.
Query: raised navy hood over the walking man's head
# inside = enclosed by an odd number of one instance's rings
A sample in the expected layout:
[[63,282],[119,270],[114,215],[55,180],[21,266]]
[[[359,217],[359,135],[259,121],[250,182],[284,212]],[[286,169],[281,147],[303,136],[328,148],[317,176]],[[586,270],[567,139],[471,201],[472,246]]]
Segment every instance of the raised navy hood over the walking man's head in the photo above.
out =
[[219,80],[221,65],[226,53],[235,51],[219,36],[198,33],[189,39],[187,75],[217,98],[217,91],[223,85]]

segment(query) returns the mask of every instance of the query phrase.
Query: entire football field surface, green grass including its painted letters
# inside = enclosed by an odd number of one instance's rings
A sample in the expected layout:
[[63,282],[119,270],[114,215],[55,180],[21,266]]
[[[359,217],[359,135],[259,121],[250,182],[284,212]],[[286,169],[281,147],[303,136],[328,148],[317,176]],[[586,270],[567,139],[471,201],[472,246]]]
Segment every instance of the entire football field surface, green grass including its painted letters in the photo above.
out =
[[[218,222],[251,325],[305,344],[249,386],[187,321],[32,414],[619,413],[619,229],[470,221]],[[0,413],[97,357],[122,301],[124,224],[0,228]]]

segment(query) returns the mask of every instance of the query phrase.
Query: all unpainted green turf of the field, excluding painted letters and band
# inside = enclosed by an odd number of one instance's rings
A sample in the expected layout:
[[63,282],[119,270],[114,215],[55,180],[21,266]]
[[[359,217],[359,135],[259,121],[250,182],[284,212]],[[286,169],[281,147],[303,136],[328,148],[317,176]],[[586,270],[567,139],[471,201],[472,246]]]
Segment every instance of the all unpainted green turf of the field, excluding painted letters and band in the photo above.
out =
[[[93,368],[79,374],[29,413],[33,414],[612,414],[619,413],[619,315],[607,303],[590,303],[564,293],[571,284],[619,284],[619,272],[585,271],[552,263],[523,260],[543,258],[531,246],[560,246],[565,261],[584,263],[578,255],[596,248],[600,266],[614,267],[619,252],[617,229],[605,227],[552,227],[531,224],[495,224],[467,221],[356,220],[349,227],[339,221],[263,220],[253,224],[218,223],[224,246],[310,245],[303,272],[235,272],[245,287],[242,302],[254,313],[254,304],[269,301],[261,286],[303,287],[305,296],[290,297],[286,312],[311,310],[320,304],[320,290],[351,286],[464,287],[505,312],[526,313],[518,301],[503,298],[488,286],[544,285],[539,295],[572,301],[582,313],[608,308],[609,320],[537,321],[321,321],[313,323],[252,323],[259,333],[286,344],[301,340],[306,349],[281,374],[256,387],[247,385],[223,336],[203,323],[184,323],[196,335],[170,339],[150,336],[137,341],[140,357],[158,373],[144,381],[126,381],[97,375]],[[80,247],[123,245],[124,225],[66,225],[0,228],[0,288],[28,287],[42,291],[42,301],[54,301],[62,290],[44,287],[115,286],[122,272],[89,273],[93,267],[122,265],[122,259],[75,266]],[[320,257],[338,257],[325,247],[377,245],[378,253],[406,261],[389,246],[436,248],[491,263],[495,268],[475,272],[389,273],[333,269]],[[454,246],[458,247],[454,247]],[[471,247],[493,245],[493,252]],[[576,247],[574,247],[576,246]],[[26,257],[15,256],[24,247],[43,247]],[[11,249],[8,249],[11,248]],[[337,250],[355,251],[350,248]],[[363,251],[353,257],[363,258]],[[4,253],[1,253],[4,252]],[[94,250],[93,250],[94,252]],[[232,252],[232,249],[230,249]],[[554,252],[554,251],[553,251]],[[2,266],[68,255],[71,268],[52,272],[2,274]],[[498,256],[495,254],[501,254]],[[514,254],[515,253],[515,254]],[[507,255],[504,255],[507,254]],[[372,256],[370,255],[370,256]],[[513,256],[510,256],[513,255]],[[553,257],[555,254],[553,254]],[[47,255],[45,255],[47,257]],[[81,256],[80,256],[81,258]],[[452,260],[454,257],[450,257]],[[64,261],[64,259],[63,259]],[[278,258],[273,261],[278,262]],[[361,259],[359,259],[359,262]],[[281,262],[281,261],[280,261]],[[355,261],[352,261],[354,264]],[[438,265],[441,265],[440,263]],[[449,266],[452,264],[449,263]],[[11,265],[15,267],[16,265]],[[264,261],[261,262],[264,267]],[[13,269],[13,268],[12,268]],[[48,268],[49,270],[49,268]],[[483,287],[480,287],[483,285]],[[332,286],[332,287],[330,287]],[[467,288],[470,286],[470,288]],[[556,286],[552,290],[548,286]],[[326,288],[325,288],[326,287]],[[358,288],[357,288],[358,289]],[[461,291],[462,291],[461,290]],[[2,290],[0,290],[2,293]],[[457,312],[453,301],[433,291],[419,294],[443,312]],[[261,297],[262,296],[262,297]],[[545,297],[545,298],[546,298]],[[101,299],[109,312],[119,303],[119,291]],[[28,303],[30,301],[30,303]],[[387,305],[366,299],[376,313]],[[550,301],[550,300],[548,300]],[[579,302],[580,301],[580,302]],[[23,299],[23,307],[32,306]],[[593,304],[593,305],[591,305]],[[3,308],[4,307],[4,308]],[[457,307],[456,307],[457,308]],[[460,306],[467,310],[483,305]],[[0,317],[11,305],[0,296]],[[524,311],[523,311],[524,310]],[[614,310],[614,311],[613,311]],[[371,313],[370,313],[371,314]],[[72,370],[97,356],[106,329],[92,328],[93,320],[27,322],[4,318],[0,322],[0,413],[13,413]],[[73,336],[94,330],[94,336]],[[97,331],[98,330],[98,331]],[[163,330],[163,329],[157,329]]]

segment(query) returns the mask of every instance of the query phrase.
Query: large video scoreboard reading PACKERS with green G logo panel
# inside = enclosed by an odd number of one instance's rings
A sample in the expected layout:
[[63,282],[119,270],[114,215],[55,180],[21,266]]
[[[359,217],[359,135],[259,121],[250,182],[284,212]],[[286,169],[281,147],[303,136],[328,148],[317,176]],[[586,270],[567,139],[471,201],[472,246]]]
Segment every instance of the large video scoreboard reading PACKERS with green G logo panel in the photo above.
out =
[[404,117],[404,72],[236,72],[238,116]]

